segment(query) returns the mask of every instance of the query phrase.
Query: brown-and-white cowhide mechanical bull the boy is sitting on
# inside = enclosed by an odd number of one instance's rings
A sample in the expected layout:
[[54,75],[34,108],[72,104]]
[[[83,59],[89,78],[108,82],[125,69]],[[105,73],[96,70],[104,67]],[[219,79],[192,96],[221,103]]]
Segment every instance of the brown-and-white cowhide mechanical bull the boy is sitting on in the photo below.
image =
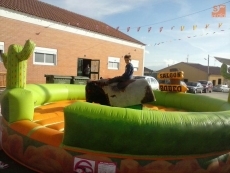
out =
[[[107,79],[88,81],[86,101],[101,105],[128,107],[155,101],[151,86],[145,79],[107,84]],[[114,88],[119,89],[114,89]]]

